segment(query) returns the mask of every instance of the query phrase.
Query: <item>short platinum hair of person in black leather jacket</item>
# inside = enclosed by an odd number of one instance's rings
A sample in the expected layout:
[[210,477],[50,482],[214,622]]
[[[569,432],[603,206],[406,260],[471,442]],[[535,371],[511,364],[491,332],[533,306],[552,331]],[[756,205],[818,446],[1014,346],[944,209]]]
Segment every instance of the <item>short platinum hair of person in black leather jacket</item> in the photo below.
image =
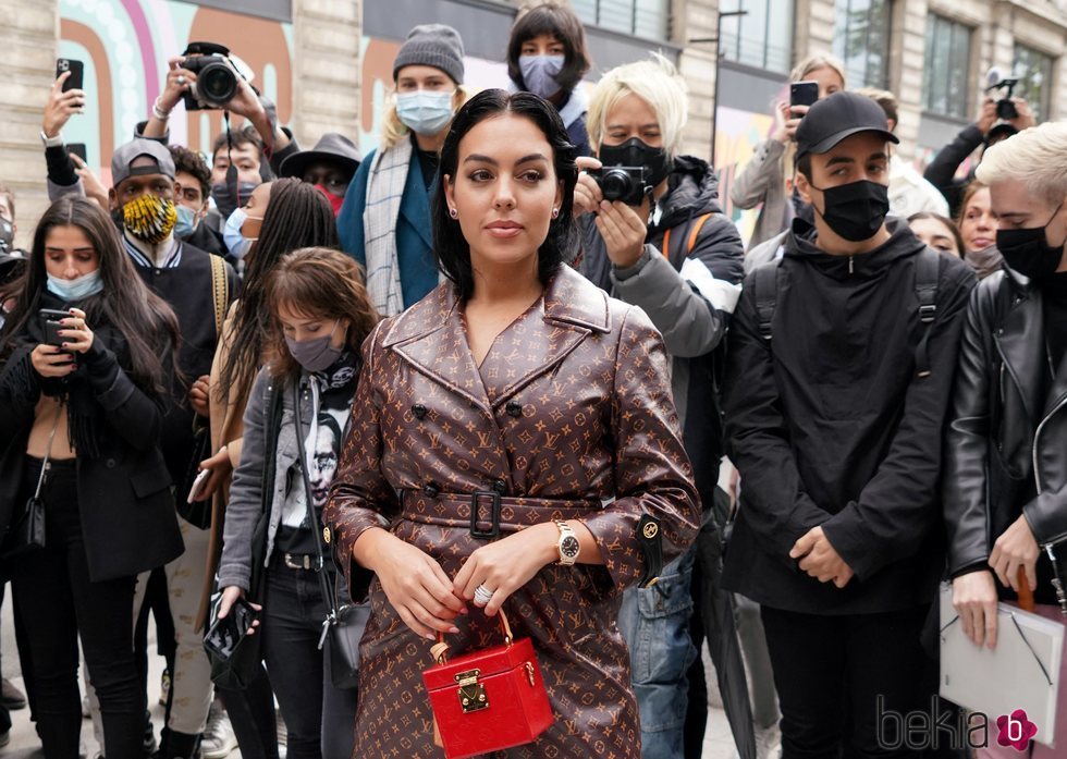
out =
[[1051,207],[1067,197],[1067,122],[1023,130],[985,149],[974,176],[986,185],[1018,180]]

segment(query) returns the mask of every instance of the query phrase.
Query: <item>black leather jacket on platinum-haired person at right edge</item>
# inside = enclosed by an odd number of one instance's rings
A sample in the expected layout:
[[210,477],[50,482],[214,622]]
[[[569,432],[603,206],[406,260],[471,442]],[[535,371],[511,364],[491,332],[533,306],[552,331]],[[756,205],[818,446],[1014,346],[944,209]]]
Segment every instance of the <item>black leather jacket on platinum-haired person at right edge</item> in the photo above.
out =
[[983,280],[967,313],[946,437],[953,576],[985,564],[1020,510],[1041,546],[1067,538],[1067,366],[1053,372],[1051,363],[1040,290],[1008,270]]

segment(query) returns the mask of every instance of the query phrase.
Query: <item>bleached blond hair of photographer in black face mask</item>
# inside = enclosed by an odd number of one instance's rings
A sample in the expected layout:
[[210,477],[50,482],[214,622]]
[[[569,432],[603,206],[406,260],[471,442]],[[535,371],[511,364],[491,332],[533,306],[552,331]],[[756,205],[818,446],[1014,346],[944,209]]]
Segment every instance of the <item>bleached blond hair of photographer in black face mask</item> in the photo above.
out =
[[651,106],[663,135],[663,148],[667,156],[676,156],[682,147],[689,97],[678,70],[658,52],[653,52],[650,60],[616,66],[597,83],[586,120],[589,144],[593,149],[600,147],[608,117],[618,101],[629,95],[636,95]]

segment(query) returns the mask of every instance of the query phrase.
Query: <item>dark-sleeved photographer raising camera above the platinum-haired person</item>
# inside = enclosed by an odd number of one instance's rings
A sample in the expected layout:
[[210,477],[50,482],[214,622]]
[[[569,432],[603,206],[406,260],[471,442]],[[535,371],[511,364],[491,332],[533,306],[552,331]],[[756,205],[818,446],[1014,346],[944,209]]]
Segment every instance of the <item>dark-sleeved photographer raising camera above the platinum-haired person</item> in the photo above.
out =
[[[977,162],[971,167],[967,176],[956,177],[956,172],[960,164],[967,160],[967,157],[979,147],[984,152],[1002,139],[1007,139],[1035,124],[1029,103],[1022,98],[1011,97],[1011,88],[1015,87],[1018,79],[1004,79],[996,69],[992,69],[988,81],[990,86],[985,90],[985,99],[979,107],[978,119],[974,123],[960,130],[953,142],[941,148],[922,174],[948,200],[948,208],[953,218],[959,216],[961,210],[960,199],[964,188],[974,179]],[[994,99],[989,95],[995,89],[1006,89],[1005,97]],[[981,156],[979,156],[979,160],[981,160]]]

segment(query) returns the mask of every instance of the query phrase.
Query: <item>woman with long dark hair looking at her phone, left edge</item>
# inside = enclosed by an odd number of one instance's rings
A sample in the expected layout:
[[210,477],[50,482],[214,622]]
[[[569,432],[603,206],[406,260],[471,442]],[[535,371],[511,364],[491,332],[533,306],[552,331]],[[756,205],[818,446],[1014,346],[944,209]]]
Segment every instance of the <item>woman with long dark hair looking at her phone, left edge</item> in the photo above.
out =
[[[53,204],[0,332],[0,523],[35,498],[45,512],[44,548],[8,565],[49,759],[78,756],[78,638],[105,752],[143,754],[130,620],[137,574],[182,552],[159,450],[177,339],[174,314],[137,276],[108,215],[84,198]],[[10,531],[2,550],[21,535]]]

